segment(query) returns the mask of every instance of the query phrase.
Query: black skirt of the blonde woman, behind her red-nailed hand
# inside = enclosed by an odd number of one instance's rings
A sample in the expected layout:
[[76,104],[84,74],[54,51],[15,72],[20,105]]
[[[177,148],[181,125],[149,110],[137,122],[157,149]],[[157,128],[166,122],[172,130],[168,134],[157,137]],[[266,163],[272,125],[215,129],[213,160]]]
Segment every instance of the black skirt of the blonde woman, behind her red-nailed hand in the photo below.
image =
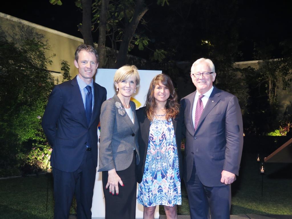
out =
[[135,176],[136,152],[131,165],[117,174],[124,183],[119,184],[119,194],[110,194],[107,185],[108,172],[102,172],[102,186],[105,195],[105,219],[135,219],[137,181]]

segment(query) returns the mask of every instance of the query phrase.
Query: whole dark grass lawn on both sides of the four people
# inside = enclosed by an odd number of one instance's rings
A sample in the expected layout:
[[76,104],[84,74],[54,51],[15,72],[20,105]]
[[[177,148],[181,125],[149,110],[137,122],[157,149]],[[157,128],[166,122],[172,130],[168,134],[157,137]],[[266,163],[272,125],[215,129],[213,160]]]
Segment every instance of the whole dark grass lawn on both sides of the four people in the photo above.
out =
[[[292,214],[292,164],[265,164],[262,197],[262,175],[255,157],[256,154],[243,155],[239,177],[232,184],[231,214]],[[182,187],[183,205],[178,207],[178,213],[189,214],[187,194]],[[53,218],[53,205],[51,175],[0,180],[1,219]],[[162,206],[159,211],[164,214]]]

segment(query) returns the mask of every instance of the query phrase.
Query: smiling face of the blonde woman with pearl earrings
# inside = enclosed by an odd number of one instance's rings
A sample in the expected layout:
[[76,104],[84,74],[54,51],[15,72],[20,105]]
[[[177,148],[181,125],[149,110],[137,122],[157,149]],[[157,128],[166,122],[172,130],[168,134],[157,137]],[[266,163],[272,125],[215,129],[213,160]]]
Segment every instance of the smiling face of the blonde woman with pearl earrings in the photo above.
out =
[[137,87],[135,76],[131,76],[119,82],[114,82],[114,84],[116,88],[119,88],[119,93],[117,94],[119,97],[120,95],[121,97],[131,97]]

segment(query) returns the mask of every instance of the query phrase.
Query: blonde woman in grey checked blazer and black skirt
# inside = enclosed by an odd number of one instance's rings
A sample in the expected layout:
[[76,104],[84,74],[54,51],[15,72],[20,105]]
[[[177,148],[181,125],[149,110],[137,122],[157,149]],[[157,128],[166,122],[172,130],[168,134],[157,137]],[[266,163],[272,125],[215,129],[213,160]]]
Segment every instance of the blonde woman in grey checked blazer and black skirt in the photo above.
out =
[[114,75],[117,94],[101,106],[98,171],[102,171],[107,219],[135,218],[139,123],[135,103],[130,99],[139,83],[134,65],[119,68]]

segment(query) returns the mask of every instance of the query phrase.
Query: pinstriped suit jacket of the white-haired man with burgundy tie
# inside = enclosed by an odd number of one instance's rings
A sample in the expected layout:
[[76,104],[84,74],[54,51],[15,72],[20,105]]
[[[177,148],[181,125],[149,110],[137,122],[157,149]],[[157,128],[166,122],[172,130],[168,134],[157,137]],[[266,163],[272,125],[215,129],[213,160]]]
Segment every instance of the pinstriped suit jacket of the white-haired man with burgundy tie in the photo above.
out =
[[241,110],[236,96],[214,87],[195,131],[192,121],[195,94],[196,91],[180,102],[186,128],[184,180],[190,180],[195,162],[203,185],[222,186],[223,170],[238,175],[243,147]]

